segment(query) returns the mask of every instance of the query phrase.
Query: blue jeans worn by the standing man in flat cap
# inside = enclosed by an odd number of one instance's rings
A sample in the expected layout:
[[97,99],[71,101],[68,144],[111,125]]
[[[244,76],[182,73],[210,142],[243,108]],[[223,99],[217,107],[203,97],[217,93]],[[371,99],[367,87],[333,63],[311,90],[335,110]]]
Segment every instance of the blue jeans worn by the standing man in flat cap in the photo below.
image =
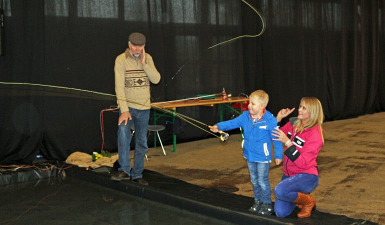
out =
[[[142,177],[144,169],[144,154],[148,151],[147,129],[149,120],[149,109],[138,110],[129,108],[132,120],[119,124],[117,129],[117,152],[119,154],[119,171],[124,171],[132,179]],[[119,111],[120,115],[120,111]],[[131,145],[131,123],[135,124],[135,151],[133,154],[133,168],[129,162],[129,150]]]

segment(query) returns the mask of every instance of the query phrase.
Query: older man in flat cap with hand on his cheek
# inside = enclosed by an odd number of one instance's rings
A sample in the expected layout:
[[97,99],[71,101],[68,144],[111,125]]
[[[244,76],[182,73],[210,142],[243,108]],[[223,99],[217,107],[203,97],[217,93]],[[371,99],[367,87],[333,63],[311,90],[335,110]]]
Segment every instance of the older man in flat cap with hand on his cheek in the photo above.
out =
[[[160,73],[151,55],[145,52],[145,36],[133,32],[128,36],[128,48],[115,59],[115,92],[119,107],[117,148],[119,173],[111,179],[132,181],[148,185],[142,178],[144,154],[148,150],[147,127],[150,112],[150,82],[158,83]],[[131,123],[135,125],[135,151],[131,169],[129,150]]]

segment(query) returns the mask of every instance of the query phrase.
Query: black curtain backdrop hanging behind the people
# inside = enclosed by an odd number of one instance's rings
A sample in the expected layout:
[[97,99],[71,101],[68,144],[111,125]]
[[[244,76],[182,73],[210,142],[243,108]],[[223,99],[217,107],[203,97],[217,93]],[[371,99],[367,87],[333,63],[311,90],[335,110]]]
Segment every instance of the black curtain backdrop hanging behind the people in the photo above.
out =
[[[264,89],[273,113],[315,96],[326,121],[385,110],[384,0],[247,2],[263,15],[264,33],[209,48],[258,34],[261,19],[242,0],[0,0],[0,82],[66,87],[0,83],[0,163],[30,163],[37,152],[49,160],[99,152],[100,111],[116,105],[114,59],[134,31],[146,35],[161,73],[153,101],[224,87],[232,95]],[[219,106],[177,111],[206,124],[219,120]],[[104,112],[111,152],[117,117]],[[158,124],[171,143],[173,124]],[[178,142],[212,137],[190,124],[176,128]]]

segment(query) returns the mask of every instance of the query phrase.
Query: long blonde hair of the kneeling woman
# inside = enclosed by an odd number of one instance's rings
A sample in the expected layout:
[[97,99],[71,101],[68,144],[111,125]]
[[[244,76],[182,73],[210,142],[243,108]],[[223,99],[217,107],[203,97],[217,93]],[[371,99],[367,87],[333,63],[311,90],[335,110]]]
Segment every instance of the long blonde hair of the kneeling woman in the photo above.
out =
[[[322,110],[321,102],[316,97],[302,97],[300,102],[302,101],[306,105],[306,109],[310,113],[310,118],[309,118],[309,121],[307,121],[307,123],[303,127],[301,127],[300,130],[298,130],[298,132],[301,132],[305,128],[313,127],[315,124],[317,124],[319,129],[319,134],[321,135],[322,142],[323,142],[323,132],[322,132],[323,110]],[[294,122],[294,125],[298,127],[300,125],[300,122],[301,121],[297,119]]]

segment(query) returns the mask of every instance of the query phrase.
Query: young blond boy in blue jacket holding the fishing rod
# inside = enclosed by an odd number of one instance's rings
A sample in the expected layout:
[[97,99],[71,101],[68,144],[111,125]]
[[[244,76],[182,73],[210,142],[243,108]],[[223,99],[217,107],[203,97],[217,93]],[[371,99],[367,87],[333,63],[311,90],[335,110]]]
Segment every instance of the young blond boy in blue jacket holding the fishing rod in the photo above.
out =
[[211,131],[230,130],[241,127],[243,130],[243,157],[246,159],[248,172],[254,192],[254,203],[249,211],[260,214],[272,214],[271,188],[268,170],[271,163],[272,144],[274,144],[275,164],[282,162],[282,143],[274,141],[272,130],[277,127],[277,120],[266,110],[268,94],[264,90],[255,90],[249,95],[248,110],[236,118],[208,126]]

